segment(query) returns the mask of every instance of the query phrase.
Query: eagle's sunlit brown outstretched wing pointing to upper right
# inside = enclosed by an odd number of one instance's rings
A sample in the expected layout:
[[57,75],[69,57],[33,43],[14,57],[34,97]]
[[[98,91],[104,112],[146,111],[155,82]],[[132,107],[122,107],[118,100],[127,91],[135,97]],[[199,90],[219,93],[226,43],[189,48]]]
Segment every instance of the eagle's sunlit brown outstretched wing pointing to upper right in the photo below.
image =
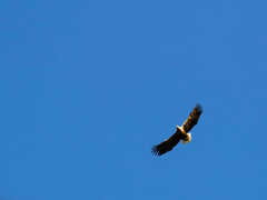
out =
[[189,132],[195,124],[197,124],[199,117],[202,113],[202,108],[200,104],[197,104],[194,110],[190,112],[187,120],[181,126],[186,132]]

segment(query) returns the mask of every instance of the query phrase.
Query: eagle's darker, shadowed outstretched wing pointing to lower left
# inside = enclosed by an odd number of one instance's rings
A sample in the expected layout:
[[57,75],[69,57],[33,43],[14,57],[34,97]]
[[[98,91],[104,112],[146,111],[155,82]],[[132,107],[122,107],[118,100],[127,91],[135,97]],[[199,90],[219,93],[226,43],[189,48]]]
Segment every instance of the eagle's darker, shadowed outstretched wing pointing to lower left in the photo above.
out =
[[152,153],[156,156],[161,156],[171,149],[180,141],[181,139],[181,131],[180,129],[176,130],[169,139],[165,140],[164,142],[152,147]]

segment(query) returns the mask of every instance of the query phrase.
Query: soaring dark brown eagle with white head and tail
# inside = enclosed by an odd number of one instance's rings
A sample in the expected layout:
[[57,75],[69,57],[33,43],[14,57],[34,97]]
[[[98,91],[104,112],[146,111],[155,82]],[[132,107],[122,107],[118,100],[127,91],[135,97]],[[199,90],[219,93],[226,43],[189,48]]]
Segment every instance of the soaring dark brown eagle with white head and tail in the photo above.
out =
[[191,141],[191,133],[189,132],[194,126],[197,124],[199,117],[202,113],[202,108],[200,104],[196,104],[192,111],[189,113],[187,120],[181,127],[176,126],[176,132],[167,140],[152,147],[152,153],[155,156],[161,156],[172,150],[176,144],[181,141],[181,143],[188,143]]

